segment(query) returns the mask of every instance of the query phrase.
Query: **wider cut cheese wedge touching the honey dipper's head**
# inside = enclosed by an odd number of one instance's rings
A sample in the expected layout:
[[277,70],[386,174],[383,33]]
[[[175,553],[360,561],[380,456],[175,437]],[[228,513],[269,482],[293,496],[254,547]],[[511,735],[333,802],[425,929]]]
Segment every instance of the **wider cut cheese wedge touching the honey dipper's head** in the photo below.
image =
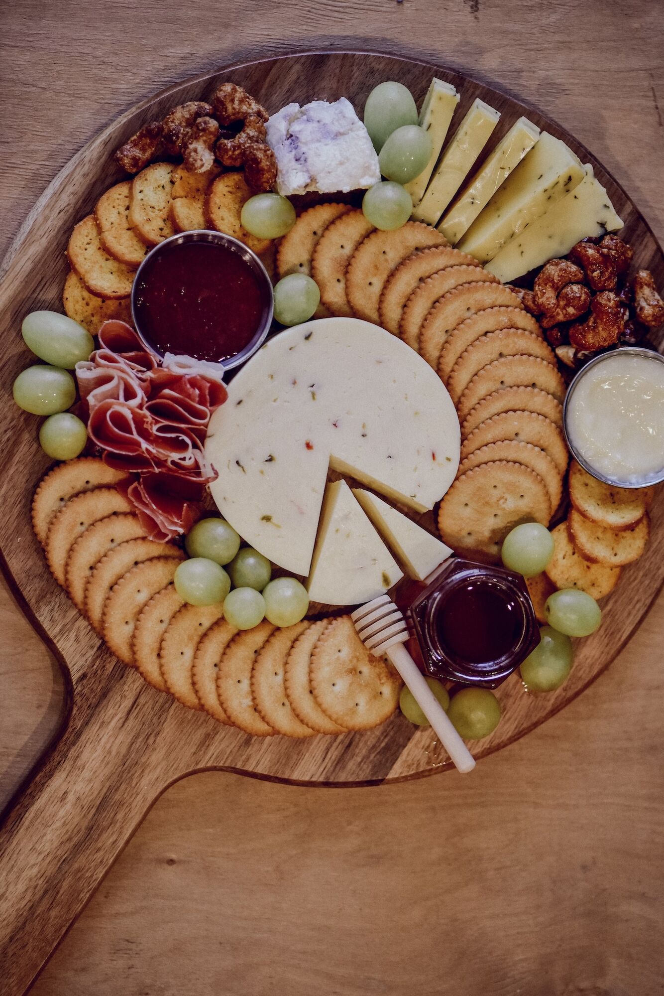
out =
[[329,484],[307,582],[312,602],[358,606],[384,595],[402,577],[345,481]]

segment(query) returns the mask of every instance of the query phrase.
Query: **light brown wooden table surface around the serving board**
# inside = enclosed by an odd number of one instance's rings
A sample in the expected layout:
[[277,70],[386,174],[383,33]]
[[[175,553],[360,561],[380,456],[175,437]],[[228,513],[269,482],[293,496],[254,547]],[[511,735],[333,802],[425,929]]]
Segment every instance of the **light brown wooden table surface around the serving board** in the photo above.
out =
[[[664,240],[657,0],[13,0],[0,5],[0,253],[121,111],[295,48],[412,54],[521,96],[595,152]],[[660,598],[594,686],[468,779],[180,782],[31,992],[662,992],[663,624]],[[4,584],[0,631],[1,804],[56,728],[62,683]]]

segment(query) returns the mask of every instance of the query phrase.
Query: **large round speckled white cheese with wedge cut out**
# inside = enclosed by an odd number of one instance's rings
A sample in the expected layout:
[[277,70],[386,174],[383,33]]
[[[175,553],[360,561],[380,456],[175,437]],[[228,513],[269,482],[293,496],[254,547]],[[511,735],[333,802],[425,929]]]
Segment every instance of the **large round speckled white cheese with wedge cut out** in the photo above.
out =
[[459,419],[440,377],[384,329],[287,329],[228,385],[205,443],[221,514],[273,563],[308,575],[328,468],[424,512],[450,487]]

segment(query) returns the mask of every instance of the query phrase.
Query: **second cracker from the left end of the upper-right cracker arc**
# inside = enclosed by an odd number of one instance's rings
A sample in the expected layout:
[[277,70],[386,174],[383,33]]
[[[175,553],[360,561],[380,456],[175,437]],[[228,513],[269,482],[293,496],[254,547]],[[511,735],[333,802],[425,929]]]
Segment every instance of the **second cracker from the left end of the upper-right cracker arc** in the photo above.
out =
[[348,261],[373,225],[359,209],[339,215],[323,232],[312,253],[312,277],[319,285],[321,302],[331,315],[352,318],[345,296]]

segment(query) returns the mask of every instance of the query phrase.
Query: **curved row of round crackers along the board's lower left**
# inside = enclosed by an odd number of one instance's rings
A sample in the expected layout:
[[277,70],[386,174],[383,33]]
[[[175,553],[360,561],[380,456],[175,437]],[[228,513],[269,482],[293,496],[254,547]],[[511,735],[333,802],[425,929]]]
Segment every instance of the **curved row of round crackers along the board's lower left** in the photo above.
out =
[[238,631],[221,605],[191,606],[175,591],[184,559],[145,536],[102,460],[62,463],[33,500],[48,565],[111,651],[155,688],[255,736],[310,737],[377,726],[401,682],[372,656],[349,616]]

